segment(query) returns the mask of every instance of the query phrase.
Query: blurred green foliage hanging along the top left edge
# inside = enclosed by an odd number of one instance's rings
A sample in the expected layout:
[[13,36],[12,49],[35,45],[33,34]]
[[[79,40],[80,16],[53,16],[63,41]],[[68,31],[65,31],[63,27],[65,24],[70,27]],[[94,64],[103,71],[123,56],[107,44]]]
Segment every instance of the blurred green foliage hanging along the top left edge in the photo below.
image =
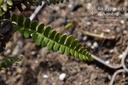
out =
[[14,11],[16,8],[18,8],[19,11],[23,11],[23,4],[29,8],[31,5],[41,5],[42,1],[50,5],[69,0],[0,0],[0,17],[3,15],[10,17],[10,10]]

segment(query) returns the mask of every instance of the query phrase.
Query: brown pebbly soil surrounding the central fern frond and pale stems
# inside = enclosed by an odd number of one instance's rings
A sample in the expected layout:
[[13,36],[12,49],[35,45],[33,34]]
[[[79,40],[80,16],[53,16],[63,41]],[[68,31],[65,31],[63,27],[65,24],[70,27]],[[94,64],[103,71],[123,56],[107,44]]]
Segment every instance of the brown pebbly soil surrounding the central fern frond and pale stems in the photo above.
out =
[[[104,62],[119,65],[121,54],[128,45],[128,22],[125,10],[108,11],[96,7],[125,7],[125,1],[78,0],[59,5],[46,6],[37,15],[39,22],[68,35],[73,34],[85,48]],[[92,9],[93,7],[93,9]],[[102,13],[116,13],[105,15]],[[32,12],[25,12],[29,16]],[[118,15],[119,14],[119,15]],[[69,23],[71,26],[65,28]],[[89,32],[84,34],[83,31]],[[96,34],[96,35],[93,35]],[[104,37],[99,37],[104,35]],[[11,51],[11,49],[13,49]],[[83,62],[73,56],[48,51],[36,46],[31,39],[15,33],[1,56],[10,54],[25,57],[16,67],[0,72],[0,85],[108,85],[114,70],[93,62]],[[118,57],[119,56],[119,57]],[[64,80],[59,76],[66,74]],[[127,85],[128,74],[119,74],[114,85]]]

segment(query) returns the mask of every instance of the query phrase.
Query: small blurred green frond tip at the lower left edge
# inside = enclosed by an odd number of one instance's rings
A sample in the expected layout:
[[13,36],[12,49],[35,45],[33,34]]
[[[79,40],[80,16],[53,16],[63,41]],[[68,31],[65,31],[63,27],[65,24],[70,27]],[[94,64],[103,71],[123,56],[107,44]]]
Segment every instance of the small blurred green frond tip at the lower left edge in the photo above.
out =
[[6,69],[11,66],[13,63],[21,61],[22,57],[7,57],[0,60],[0,70]]

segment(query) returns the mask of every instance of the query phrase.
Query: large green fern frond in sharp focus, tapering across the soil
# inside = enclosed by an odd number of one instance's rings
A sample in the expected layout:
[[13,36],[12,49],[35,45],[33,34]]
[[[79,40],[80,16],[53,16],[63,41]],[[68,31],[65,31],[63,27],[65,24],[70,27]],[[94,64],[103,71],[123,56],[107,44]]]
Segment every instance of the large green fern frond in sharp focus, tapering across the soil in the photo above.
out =
[[51,30],[50,26],[44,26],[43,23],[38,25],[37,21],[24,19],[22,15],[19,17],[13,15],[11,20],[17,23],[14,26],[14,32],[20,31],[25,38],[32,37],[37,45],[47,47],[49,50],[60,51],[61,54],[75,56],[80,60],[93,60],[91,54],[72,35],[60,35],[57,31]]

